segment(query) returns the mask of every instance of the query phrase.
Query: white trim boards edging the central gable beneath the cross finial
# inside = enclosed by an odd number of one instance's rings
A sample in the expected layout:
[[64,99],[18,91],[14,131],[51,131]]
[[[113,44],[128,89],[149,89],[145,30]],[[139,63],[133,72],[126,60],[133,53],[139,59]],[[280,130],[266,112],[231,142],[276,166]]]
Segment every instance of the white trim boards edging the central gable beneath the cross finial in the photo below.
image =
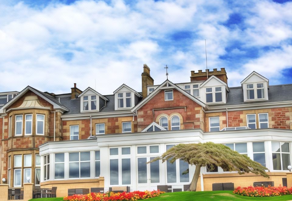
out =
[[146,98],[144,98],[144,100],[142,100],[140,103],[138,103],[131,111],[133,112],[133,111],[141,108],[144,104],[146,104],[148,101],[150,101],[158,92],[160,92],[161,90],[165,90],[165,89],[176,89],[180,93],[184,94],[186,97],[190,98],[191,100],[193,100],[194,102],[196,102],[197,104],[202,106],[203,108],[209,108],[205,103],[203,103],[202,101],[193,97],[191,94],[187,93],[185,90],[182,90],[179,86],[170,82],[167,79],[161,85],[159,85],[153,92],[151,92]]

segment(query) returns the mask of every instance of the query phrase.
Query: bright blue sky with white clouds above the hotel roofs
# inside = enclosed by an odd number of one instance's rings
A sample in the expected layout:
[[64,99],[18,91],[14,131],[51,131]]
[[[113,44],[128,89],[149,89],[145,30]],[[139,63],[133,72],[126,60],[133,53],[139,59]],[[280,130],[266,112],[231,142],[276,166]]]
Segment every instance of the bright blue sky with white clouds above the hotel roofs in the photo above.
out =
[[252,71],[292,83],[292,2],[285,0],[0,0],[0,92],[32,86],[103,95],[123,83],[141,91],[225,68],[228,86]]

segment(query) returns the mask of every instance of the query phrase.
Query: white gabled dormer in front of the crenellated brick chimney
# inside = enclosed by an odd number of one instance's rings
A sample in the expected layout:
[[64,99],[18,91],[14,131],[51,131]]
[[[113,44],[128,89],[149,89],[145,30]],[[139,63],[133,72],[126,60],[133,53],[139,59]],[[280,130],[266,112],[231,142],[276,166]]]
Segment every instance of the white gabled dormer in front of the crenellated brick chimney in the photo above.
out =
[[200,100],[206,104],[225,104],[229,88],[216,76],[210,76],[200,85]]

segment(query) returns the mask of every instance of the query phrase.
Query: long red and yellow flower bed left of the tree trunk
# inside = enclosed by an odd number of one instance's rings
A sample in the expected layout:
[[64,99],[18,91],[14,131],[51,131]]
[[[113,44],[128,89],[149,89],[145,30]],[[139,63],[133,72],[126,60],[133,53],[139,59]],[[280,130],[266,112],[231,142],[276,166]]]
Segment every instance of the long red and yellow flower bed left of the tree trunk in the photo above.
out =
[[107,193],[89,193],[87,195],[66,196],[64,200],[68,201],[112,201],[112,200],[139,200],[159,196],[162,191],[133,191],[133,192],[107,192]]

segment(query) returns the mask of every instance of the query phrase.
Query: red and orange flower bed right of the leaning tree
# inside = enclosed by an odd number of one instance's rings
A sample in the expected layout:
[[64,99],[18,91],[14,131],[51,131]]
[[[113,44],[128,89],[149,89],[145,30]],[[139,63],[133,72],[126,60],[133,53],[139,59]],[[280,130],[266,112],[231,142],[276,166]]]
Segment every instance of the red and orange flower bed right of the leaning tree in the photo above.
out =
[[256,186],[256,187],[244,187],[241,188],[238,186],[233,193],[241,195],[241,196],[249,196],[249,197],[271,197],[271,196],[283,196],[283,195],[292,195],[292,188],[287,189],[286,186]]

